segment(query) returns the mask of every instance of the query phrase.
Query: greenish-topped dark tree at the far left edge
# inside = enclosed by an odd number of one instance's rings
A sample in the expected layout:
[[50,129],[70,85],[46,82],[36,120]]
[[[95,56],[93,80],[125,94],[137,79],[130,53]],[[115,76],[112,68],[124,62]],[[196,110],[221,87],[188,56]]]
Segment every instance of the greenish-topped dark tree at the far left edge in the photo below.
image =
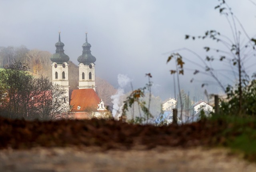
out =
[[27,118],[31,112],[32,104],[29,101],[33,96],[34,81],[26,71],[28,66],[14,62],[0,72],[2,108],[10,118]]

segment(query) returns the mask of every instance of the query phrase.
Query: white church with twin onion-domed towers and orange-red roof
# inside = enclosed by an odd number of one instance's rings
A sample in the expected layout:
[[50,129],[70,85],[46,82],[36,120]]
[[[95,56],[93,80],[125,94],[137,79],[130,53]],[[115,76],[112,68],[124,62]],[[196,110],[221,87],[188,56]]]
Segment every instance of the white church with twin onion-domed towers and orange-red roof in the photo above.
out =
[[[111,113],[104,107],[104,102],[96,94],[95,61],[91,54],[91,45],[87,42],[82,45],[82,55],[77,58],[79,62],[79,81],[77,90],[69,90],[68,61],[69,56],[64,53],[64,43],[55,44],[56,53],[52,55],[52,82],[66,90],[67,100],[63,100],[63,108],[76,119],[109,118]],[[71,109],[71,110],[70,110]]]

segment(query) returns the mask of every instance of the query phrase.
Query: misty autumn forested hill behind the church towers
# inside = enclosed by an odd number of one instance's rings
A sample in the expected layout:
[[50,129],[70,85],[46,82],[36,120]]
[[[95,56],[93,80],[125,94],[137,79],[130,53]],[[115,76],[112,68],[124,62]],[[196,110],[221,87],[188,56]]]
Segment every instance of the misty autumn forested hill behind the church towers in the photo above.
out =
[[[10,66],[15,61],[20,61],[24,64],[28,64],[28,71],[34,77],[47,76],[52,80],[52,62],[50,57],[52,54],[48,51],[42,51],[38,49],[29,50],[26,46],[0,46],[0,68],[4,66]],[[70,90],[78,89],[78,66],[73,62],[69,61],[68,68],[68,80],[70,85]],[[116,93],[116,89],[108,83],[106,80],[103,80],[99,77],[96,77],[96,92],[98,96],[105,101],[105,104],[111,106],[112,100],[110,96]]]

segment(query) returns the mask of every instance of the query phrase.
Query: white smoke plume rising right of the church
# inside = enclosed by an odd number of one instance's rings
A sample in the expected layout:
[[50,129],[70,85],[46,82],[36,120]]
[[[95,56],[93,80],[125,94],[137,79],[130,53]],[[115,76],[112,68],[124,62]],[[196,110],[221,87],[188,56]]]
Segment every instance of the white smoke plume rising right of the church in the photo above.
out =
[[119,85],[117,93],[110,97],[112,99],[112,103],[113,103],[113,110],[112,110],[113,117],[116,116],[116,113],[118,111],[119,111],[118,117],[121,115],[122,105],[119,106],[119,104],[120,104],[120,96],[124,95],[124,88],[125,88],[125,86],[129,82],[131,82],[131,79],[128,78],[128,76],[123,75],[123,74],[118,74],[117,80],[118,80],[118,85]]

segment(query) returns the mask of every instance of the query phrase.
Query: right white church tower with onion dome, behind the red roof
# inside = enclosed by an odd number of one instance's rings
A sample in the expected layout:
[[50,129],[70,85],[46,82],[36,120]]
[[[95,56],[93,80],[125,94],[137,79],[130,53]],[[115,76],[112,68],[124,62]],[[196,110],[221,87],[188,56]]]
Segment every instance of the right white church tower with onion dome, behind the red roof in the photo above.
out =
[[87,42],[82,45],[82,55],[77,58],[79,62],[79,89],[93,88],[95,91],[95,64],[96,58],[91,54],[91,44]]

